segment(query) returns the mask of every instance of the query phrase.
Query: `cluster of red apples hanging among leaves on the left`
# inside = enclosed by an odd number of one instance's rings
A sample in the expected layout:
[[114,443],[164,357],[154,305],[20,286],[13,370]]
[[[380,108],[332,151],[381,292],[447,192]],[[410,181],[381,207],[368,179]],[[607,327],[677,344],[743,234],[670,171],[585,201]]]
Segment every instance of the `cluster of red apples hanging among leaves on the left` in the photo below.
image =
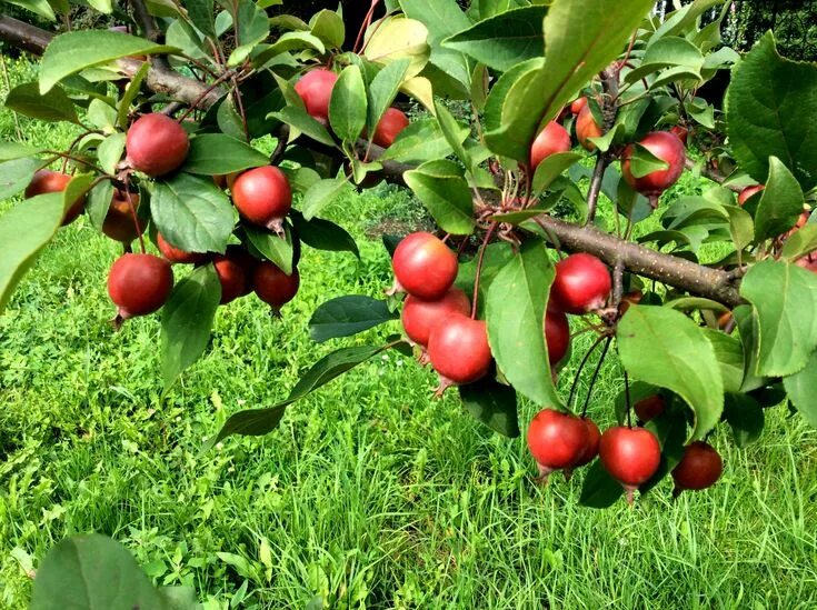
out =
[[[168,176],[185,162],[189,139],[185,129],[161,113],[146,114],[130,127],[126,138],[126,171],[139,171],[151,178]],[[215,177],[217,182],[221,177]],[[26,197],[63,191],[71,177],[40,170],[26,190]],[[229,180],[232,201],[241,217],[250,223],[280,231],[291,208],[292,193],[286,176],[276,167],[250,169]],[[62,224],[72,222],[84,207],[84,196],[64,213]],[[102,231],[129,249],[134,239],[142,241],[145,226],[138,217],[139,194],[114,190],[102,224]],[[173,288],[172,263],[205,264],[212,262],[221,284],[221,304],[255,291],[273,310],[295,298],[300,278],[298,270],[286,274],[276,264],[258,260],[240,246],[231,246],[223,254],[187,252],[156,236],[161,257],[127,252],[117,259],[108,274],[108,293],[118,308],[118,317],[128,319],[158,311]]]

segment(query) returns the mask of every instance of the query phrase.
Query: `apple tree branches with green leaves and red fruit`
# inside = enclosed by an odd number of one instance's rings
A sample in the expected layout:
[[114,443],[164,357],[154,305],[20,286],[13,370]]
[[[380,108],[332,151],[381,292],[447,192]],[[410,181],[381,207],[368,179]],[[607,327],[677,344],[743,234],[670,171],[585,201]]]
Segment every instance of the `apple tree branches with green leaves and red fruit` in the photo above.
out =
[[[26,197],[0,217],[0,309],[84,213],[123,244],[116,322],[160,311],[170,388],[219,307],[255,292],[286,314],[300,257],[358,254],[322,218],[345,191],[400,184],[438,227],[383,240],[382,298],[332,299],[310,321],[318,342],[378,324],[392,340],[331,352],[211,443],[270,432],[386,350],[414,350],[438,393],[501,434],[520,434],[520,398],[539,406],[521,423],[541,478],[587,464],[597,508],[670,474],[676,492],[715,483],[718,426],[745,446],[766,408],[817,424],[817,67],[780,57],[773,33],[725,47],[728,4],[659,19],[652,0],[386,0],[375,19],[372,0],[360,31],[340,9],[269,17],[280,0],[89,4],[121,26],[52,34],[0,17],[3,43],[39,57],[6,106],[81,131],[61,151],[0,143],[0,199]],[[723,109],[698,94],[720,71]],[[685,171],[703,193],[665,196]],[[570,349],[579,332],[596,337],[587,353]],[[556,380],[611,349],[625,387],[601,433],[589,393],[582,408]]]

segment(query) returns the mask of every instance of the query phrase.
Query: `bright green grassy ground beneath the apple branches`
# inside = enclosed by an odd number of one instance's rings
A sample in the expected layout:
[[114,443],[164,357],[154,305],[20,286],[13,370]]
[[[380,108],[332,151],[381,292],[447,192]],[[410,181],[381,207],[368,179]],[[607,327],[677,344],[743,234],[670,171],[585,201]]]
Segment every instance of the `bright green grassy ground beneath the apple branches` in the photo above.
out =
[[[70,137],[22,128],[53,147]],[[0,113],[0,134],[13,130]],[[679,187],[695,188],[688,177]],[[492,434],[452,396],[432,400],[432,376],[392,354],[290,408],[275,433],[199,457],[229,413],[282,398],[336,347],[309,342],[310,313],[389,283],[386,252],[365,233],[417,222],[414,209],[386,188],[339,201],[331,214],[362,260],[308,251],[283,320],[251,298],[221,309],[212,349],[167,398],[158,320],[119,333],[106,322],[117,247],[84,219],[62,230],[0,317],[0,607],[24,607],[29,562],[87,531],[213,609],[817,603],[817,433],[783,409],[747,450],[714,436],[726,469],[711,491],[672,502],[667,482],[607,511],[578,506],[580,476],[534,486],[524,440]],[[620,388],[610,359],[590,408],[602,427]],[[521,421],[534,412],[524,404]]]

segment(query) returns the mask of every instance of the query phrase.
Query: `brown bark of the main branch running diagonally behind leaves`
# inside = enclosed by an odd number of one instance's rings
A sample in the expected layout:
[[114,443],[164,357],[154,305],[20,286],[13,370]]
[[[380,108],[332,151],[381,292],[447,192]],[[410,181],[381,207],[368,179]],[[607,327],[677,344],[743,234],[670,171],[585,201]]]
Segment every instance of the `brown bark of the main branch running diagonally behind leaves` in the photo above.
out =
[[[14,47],[34,54],[42,54],[51,38],[52,34],[44,30],[10,17],[0,16],[0,40]],[[122,73],[133,76],[142,62],[121,59],[118,64]],[[202,108],[215,104],[226,93],[220,89],[208,92],[206,84],[177,72],[157,68],[151,68],[146,81],[152,91],[167,93],[188,104],[201,99]],[[361,152],[368,149],[371,160],[377,160],[383,154],[382,148],[362,140],[358,141],[356,148]],[[332,149],[332,152],[338,153],[339,151]],[[397,161],[383,161],[382,167],[387,181],[402,186],[406,184],[403,173],[414,169],[412,166]],[[711,172],[701,172],[701,176],[718,182],[724,180],[723,177],[711,174]],[[736,307],[744,302],[733,283],[735,279],[726,271],[710,269],[686,259],[650,250],[616,236],[604,233],[590,226],[570,224],[548,214],[541,214],[538,221],[546,233],[558,240],[558,246],[567,251],[589,252],[612,268],[624,266],[631,273],[713,299],[728,307]]]

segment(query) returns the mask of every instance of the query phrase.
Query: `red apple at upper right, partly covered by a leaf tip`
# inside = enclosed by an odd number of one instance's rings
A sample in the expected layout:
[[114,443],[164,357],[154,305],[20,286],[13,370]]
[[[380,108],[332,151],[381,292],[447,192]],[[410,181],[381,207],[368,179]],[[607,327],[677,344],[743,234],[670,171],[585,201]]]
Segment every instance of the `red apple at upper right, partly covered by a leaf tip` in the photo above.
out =
[[635,144],[630,144],[621,156],[621,176],[624,176],[624,179],[634,190],[646,197],[657,198],[675,184],[678,178],[680,178],[680,174],[684,173],[687,159],[684,142],[678,139],[678,136],[669,131],[654,131],[645,136],[638,143],[669,167],[636,178],[632,176],[632,169],[630,167],[631,159],[636,153],[636,147]]

